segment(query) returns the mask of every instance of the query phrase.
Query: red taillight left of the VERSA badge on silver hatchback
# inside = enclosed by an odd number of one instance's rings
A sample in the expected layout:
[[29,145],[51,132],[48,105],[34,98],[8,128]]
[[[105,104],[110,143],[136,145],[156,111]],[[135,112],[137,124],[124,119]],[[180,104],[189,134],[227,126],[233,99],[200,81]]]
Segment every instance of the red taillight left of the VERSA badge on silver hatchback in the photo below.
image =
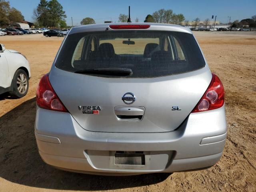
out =
[[48,74],[45,74],[39,82],[36,90],[36,103],[39,107],[44,109],[68,112],[54,92],[50,84]]

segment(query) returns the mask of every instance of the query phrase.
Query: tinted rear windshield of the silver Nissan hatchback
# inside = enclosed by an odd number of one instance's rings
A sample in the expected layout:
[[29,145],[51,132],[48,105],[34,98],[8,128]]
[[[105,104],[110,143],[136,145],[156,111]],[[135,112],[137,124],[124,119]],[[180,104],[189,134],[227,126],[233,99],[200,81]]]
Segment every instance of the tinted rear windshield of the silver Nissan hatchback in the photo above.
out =
[[126,68],[132,75],[122,78],[150,78],[197,70],[205,62],[192,34],[127,30],[68,35],[55,65],[70,72]]

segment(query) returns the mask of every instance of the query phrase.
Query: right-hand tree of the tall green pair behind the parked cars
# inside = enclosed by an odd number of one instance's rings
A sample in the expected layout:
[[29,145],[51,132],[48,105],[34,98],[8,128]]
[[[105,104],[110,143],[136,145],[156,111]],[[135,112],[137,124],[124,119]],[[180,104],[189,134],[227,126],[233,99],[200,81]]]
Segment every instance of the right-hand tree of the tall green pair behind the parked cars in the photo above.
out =
[[62,5],[57,0],[50,0],[48,2],[48,11],[50,13],[51,26],[53,27],[58,26],[60,21],[67,17]]

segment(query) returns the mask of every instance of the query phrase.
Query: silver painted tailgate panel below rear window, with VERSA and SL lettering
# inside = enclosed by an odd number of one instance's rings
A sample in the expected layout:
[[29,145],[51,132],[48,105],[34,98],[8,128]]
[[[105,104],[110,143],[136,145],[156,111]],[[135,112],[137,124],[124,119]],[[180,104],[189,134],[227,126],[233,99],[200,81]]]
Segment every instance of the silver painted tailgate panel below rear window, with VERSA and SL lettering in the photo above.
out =
[[[211,78],[207,68],[141,79],[102,78],[55,68],[49,76],[56,94],[74,119],[82,128],[96,132],[175,130],[196,106]],[[129,105],[122,100],[128,92],[136,96]],[[85,113],[93,109],[98,112]]]

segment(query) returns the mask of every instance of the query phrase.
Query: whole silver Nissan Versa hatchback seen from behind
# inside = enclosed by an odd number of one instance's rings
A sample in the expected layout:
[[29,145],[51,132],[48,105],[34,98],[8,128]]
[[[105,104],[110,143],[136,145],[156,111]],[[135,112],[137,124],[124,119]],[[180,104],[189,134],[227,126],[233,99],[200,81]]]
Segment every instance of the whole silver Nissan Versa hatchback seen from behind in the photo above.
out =
[[208,168],[227,136],[223,85],[184,26],[72,28],[36,102],[40,156],[73,172]]

